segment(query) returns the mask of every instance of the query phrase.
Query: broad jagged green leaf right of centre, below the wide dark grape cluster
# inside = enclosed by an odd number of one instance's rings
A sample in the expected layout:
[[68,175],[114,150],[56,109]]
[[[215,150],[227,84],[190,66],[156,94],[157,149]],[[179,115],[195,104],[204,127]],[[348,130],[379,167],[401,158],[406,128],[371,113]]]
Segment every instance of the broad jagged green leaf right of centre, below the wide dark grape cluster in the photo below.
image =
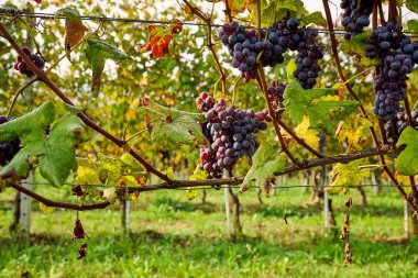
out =
[[336,89],[304,90],[298,81],[287,85],[284,92],[286,111],[294,122],[300,123],[304,115],[309,116],[312,127],[323,127],[328,134],[333,133],[333,122],[355,111],[359,102],[353,100],[337,101],[321,99],[333,94]]

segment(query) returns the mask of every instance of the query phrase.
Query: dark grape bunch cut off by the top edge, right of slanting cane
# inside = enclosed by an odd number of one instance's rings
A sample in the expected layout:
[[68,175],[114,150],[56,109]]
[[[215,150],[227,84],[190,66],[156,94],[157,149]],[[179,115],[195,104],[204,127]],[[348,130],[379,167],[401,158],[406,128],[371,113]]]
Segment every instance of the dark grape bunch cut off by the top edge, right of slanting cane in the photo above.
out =
[[363,32],[370,25],[370,15],[373,11],[373,0],[342,0],[340,8],[344,10],[341,24],[349,34],[345,40]]

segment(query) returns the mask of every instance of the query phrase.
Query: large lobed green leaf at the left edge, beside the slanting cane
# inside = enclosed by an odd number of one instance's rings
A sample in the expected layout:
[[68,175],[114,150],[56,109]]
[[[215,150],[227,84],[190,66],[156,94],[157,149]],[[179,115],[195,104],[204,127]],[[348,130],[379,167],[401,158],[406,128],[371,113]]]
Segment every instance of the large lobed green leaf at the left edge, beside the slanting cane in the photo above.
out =
[[[48,109],[48,111],[51,110],[52,108]],[[40,114],[36,112],[34,114],[40,116]],[[31,118],[33,118],[34,125],[45,120],[42,116]],[[23,119],[23,122],[24,120],[26,119]],[[10,127],[16,129],[19,131],[24,130],[25,133],[19,134],[19,137],[21,138],[23,145],[22,148],[14,156],[14,158],[0,171],[0,175],[4,175],[11,170],[14,170],[15,175],[19,177],[26,176],[30,170],[28,159],[32,156],[36,156],[38,158],[41,175],[53,186],[61,186],[67,179],[70,170],[77,169],[77,160],[73,152],[73,145],[75,144],[76,134],[82,131],[81,120],[72,114],[64,115],[55,122],[48,136],[45,135],[45,127],[43,126],[45,126],[45,123],[50,121],[37,125],[43,127],[43,136],[38,136],[38,134],[42,132],[38,130],[32,130],[33,134],[36,136],[31,136],[32,133],[28,134],[25,126],[19,126],[19,123],[21,121],[18,119],[8,123],[11,125]],[[8,129],[9,125],[1,125],[0,134],[2,134],[2,130],[4,127]],[[28,141],[28,137],[36,137],[36,140]],[[23,141],[23,138],[25,140]]]

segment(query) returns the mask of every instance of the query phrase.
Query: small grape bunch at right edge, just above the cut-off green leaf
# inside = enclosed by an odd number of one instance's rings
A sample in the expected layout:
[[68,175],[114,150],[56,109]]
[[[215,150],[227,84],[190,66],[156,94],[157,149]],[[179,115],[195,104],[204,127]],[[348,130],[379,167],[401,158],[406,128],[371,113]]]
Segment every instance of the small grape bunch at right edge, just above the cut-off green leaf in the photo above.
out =
[[[418,130],[418,107],[411,111],[410,125]],[[385,123],[386,137],[392,144],[396,144],[403,131],[408,126],[408,116],[404,111],[398,112],[396,118]]]

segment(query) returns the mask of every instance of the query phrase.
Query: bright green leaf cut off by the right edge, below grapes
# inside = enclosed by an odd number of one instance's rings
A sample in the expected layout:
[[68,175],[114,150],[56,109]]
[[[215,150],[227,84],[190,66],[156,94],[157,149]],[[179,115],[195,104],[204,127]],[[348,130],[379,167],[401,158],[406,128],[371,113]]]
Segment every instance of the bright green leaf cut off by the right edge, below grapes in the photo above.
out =
[[400,137],[397,147],[406,145],[406,148],[399,154],[395,162],[395,169],[400,175],[414,176],[418,174],[418,131],[407,126]]

